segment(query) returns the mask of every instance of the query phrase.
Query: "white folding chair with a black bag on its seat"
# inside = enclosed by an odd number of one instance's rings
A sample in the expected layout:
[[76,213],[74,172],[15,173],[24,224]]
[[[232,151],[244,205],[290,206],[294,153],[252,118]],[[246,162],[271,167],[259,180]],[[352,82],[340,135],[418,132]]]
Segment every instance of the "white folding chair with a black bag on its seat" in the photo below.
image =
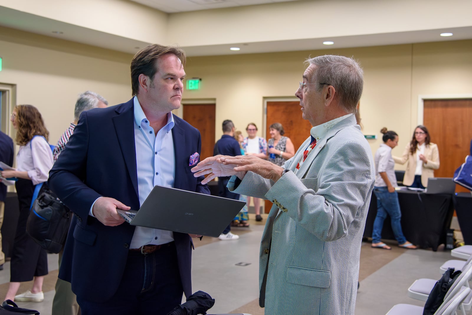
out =
[[[469,287],[469,280],[472,278],[472,264],[466,265],[462,273],[457,277],[455,282],[451,285],[449,290],[444,297],[444,300],[451,294],[455,294],[463,286]],[[413,282],[413,284],[408,288],[408,296],[410,298],[415,298],[418,300],[426,301],[430,295],[431,290],[436,284],[437,280],[433,279],[418,279]],[[470,310],[472,308],[472,294],[465,298],[463,303],[465,310]]]

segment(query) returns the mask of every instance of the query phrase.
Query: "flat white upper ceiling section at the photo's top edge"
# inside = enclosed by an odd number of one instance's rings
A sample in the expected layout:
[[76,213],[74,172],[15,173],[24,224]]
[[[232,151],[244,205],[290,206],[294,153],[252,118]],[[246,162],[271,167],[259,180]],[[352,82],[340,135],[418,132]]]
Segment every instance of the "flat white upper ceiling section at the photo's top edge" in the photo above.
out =
[[166,13],[208,10],[216,8],[233,8],[274,2],[299,0],[131,0],[145,6],[156,8]]

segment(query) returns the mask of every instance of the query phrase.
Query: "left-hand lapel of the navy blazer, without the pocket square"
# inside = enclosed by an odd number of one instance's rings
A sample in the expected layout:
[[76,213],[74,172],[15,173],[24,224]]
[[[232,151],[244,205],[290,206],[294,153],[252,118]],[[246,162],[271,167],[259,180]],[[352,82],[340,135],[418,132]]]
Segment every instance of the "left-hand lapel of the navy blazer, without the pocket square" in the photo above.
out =
[[133,99],[119,106],[116,109],[117,116],[112,117],[115,131],[117,133],[118,142],[121,153],[125,159],[126,168],[131,178],[136,196],[138,194],[138,173],[136,169],[136,147],[135,147],[135,125]]

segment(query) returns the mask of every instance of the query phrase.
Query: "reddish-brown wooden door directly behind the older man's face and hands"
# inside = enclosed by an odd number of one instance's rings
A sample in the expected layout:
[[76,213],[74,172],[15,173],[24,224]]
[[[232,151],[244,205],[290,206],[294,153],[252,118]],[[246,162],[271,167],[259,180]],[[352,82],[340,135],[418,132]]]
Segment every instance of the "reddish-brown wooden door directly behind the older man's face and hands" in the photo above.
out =
[[[270,101],[267,102],[266,135],[270,139],[269,126],[280,123],[284,126],[285,134],[293,142],[296,150],[310,136],[312,124],[303,119],[299,101]],[[269,213],[272,203],[265,201],[265,213]]]

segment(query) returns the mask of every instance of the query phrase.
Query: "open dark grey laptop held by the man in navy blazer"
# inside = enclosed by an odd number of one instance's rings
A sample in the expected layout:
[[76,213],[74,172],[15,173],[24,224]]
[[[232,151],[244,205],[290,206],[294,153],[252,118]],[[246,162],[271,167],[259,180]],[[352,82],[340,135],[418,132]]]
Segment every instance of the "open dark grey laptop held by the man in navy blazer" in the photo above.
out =
[[118,209],[118,213],[131,225],[218,237],[244,205],[244,201],[157,185],[139,211]]

